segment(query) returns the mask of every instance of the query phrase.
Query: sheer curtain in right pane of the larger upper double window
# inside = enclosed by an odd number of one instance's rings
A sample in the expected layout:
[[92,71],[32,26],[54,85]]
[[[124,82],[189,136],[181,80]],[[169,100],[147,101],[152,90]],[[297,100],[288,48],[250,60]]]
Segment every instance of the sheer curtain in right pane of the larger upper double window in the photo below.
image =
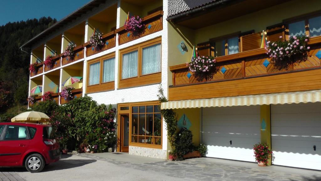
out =
[[142,75],[160,72],[160,43],[143,48]]

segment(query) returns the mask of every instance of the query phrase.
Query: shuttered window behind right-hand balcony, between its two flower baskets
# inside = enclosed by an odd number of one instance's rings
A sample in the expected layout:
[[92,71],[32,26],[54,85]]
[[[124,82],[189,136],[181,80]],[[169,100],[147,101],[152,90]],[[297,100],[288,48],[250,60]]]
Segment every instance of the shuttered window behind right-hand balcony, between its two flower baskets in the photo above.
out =
[[214,40],[215,57],[231,55],[238,52],[239,52],[239,36],[234,36],[234,37],[225,38],[225,39],[218,38],[216,39],[216,41]]

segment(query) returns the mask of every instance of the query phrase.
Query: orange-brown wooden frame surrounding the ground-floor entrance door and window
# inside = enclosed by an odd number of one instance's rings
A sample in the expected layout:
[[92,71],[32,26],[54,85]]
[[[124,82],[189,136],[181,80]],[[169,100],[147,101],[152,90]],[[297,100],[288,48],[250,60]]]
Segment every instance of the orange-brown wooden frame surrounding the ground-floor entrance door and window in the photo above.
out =
[[[144,147],[144,148],[156,148],[156,149],[162,149],[162,145],[163,145],[163,117],[160,117],[160,145],[153,145],[153,144],[146,144],[146,143],[134,143],[132,142],[132,114],[138,114],[138,113],[132,113],[132,108],[134,106],[155,106],[155,105],[160,105],[159,101],[148,101],[148,102],[135,102],[135,103],[124,103],[124,104],[118,104],[118,114],[117,114],[117,118],[118,120],[120,120],[120,116],[122,114],[129,114],[129,141],[128,141],[128,145],[129,146],[135,146],[135,147]],[[120,107],[129,107],[129,110],[120,110]],[[148,114],[148,113],[145,113]],[[154,112],[152,112],[151,114],[154,114]],[[160,114],[160,113],[159,113]],[[145,119],[145,125],[146,125],[146,119]],[[153,125],[154,128],[154,125]],[[117,133],[118,133],[118,137],[120,138],[120,124],[117,125]],[[139,136],[139,135],[137,135]],[[158,136],[156,136],[158,137]],[[152,138],[154,138],[154,136],[152,136]],[[119,145],[118,145],[118,149],[119,149]]]

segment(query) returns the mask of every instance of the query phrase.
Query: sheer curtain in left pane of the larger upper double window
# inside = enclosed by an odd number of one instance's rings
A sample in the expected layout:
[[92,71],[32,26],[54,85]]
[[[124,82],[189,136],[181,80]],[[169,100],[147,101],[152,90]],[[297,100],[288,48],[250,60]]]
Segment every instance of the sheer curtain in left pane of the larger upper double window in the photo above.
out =
[[123,54],[121,78],[137,76],[137,50]]

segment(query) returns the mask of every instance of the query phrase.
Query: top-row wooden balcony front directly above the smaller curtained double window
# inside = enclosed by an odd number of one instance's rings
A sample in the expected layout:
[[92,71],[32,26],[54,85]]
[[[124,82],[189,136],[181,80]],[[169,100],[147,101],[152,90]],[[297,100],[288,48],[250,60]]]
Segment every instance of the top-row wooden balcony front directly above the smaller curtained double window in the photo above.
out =
[[105,41],[105,46],[100,51],[97,51],[95,49],[95,47],[90,46],[89,42],[83,44],[84,47],[87,47],[86,48],[86,57],[89,57],[89,56],[94,55],[96,53],[103,52],[105,50],[114,48],[116,46],[116,33],[115,33],[115,31],[111,31],[107,34],[104,34],[102,37],[103,37],[103,40]]

